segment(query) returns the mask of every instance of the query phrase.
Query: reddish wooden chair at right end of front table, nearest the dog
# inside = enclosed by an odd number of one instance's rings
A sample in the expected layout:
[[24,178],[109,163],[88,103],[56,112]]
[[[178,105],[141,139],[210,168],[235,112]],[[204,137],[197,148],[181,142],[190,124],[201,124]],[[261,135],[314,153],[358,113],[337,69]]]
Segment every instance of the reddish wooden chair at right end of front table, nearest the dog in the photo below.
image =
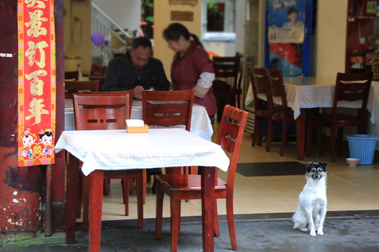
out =
[[[233,250],[237,249],[233,214],[234,176],[247,116],[248,112],[226,105],[217,137],[217,144],[220,144],[225,151],[232,153],[227,181],[218,178],[215,182],[215,198],[226,199],[227,225]],[[218,169],[216,169],[216,177],[217,172]],[[156,238],[161,239],[162,236],[162,210],[164,194],[166,193],[171,198],[171,251],[177,251],[180,230],[180,200],[201,199],[201,175],[161,174],[156,175],[155,178],[157,179]],[[218,237],[220,228],[217,202],[215,204],[215,236]]]

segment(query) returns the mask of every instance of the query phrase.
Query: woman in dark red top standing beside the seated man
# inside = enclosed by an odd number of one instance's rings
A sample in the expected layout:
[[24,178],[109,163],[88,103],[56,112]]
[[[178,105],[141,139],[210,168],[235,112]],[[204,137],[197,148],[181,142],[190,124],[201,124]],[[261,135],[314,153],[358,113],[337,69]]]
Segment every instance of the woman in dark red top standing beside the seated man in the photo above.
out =
[[[199,38],[188,29],[173,23],[164,30],[163,36],[168,48],[175,52],[171,64],[171,83],[173,90],[194,90],[194,103],[204,106],[213,123],[217,106],[213,95],[212,82],[215,73]],[[194,41],[190,41],[192,36]]]

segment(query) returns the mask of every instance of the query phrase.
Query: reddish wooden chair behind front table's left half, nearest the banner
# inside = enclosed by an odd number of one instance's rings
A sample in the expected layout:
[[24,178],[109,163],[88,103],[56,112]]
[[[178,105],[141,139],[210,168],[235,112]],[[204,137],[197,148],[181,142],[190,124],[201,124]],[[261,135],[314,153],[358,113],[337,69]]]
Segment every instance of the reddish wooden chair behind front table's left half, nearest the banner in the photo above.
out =
[[[125,130],[125,120],[130,118],[128,93],[120,94],[73,94],[74,113],[77,130]],[[101,143],[99,143],[101,144]],[[105,171],[104,179],[122,179],[125,215],[128,215],[128,179],[137,181],[138,228],[143,226],[143,171],[128,169],[124,171]],[[88,230],[88,185],[86,176],[83,179],[83,229]],[[96,211],[90,209],[90,211]]]

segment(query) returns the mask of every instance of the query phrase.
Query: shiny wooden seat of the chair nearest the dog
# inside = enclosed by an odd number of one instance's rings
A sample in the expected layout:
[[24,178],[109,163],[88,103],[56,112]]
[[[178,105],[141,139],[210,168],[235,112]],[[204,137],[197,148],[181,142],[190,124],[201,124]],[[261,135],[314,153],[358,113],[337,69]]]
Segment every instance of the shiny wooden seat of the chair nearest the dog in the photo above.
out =
[[[159,174],[155,175],[160,182],[170,190],[198,190],[201,191],[201,175],[191,174]],[[225,190],[227,182],[218,178],[215,190]]]

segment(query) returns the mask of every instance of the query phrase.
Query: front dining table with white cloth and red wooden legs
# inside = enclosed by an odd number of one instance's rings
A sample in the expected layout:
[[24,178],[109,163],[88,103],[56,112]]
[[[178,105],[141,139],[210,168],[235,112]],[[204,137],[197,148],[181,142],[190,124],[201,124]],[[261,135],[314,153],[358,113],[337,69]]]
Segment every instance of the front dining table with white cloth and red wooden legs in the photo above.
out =
[[221,146],[180,128],[64,131],[55,152],[69,153],[66,190],[66,242],[75,242],[81,172],[89,176],[89,251],[100,251],[103,172],[158,167],[201,167],[203,251],[214,250],[215,169],[227,171],[230,160]]

